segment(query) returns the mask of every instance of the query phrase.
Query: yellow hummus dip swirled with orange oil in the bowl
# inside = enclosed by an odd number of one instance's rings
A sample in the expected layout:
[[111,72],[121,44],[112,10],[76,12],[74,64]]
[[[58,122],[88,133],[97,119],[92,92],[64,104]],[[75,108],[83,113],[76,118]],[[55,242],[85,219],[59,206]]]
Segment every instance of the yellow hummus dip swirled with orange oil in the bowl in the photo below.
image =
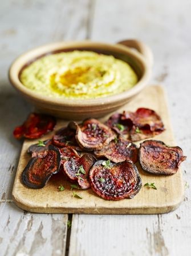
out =
[[20,80],[44,96],[91,99],[130,89],[137,83],[137,75],[128,63],[111,55],[75,50],[32,62]]

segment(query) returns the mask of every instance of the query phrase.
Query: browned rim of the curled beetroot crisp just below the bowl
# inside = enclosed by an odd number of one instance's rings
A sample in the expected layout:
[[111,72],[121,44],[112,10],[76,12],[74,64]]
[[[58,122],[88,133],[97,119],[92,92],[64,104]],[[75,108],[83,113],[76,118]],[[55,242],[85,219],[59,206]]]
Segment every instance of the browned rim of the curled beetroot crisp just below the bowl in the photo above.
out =
[[[91,120],[94,120],[94,122],[99,125],[100,127],[103,127],[108,133],[109,133],[109,137],[107,139],[105,139],[104,142],[100,142],[100,143],[97,143],[96,146],[88,146],[88,143],[84,142],[82,140],[82,137],[83,137],[83,131],[82,131],[82,127],[84,125],[85,122],[87,121],[91,121]],[[100,121],[98,121],[97,119],[94,119],[94,118],[87,118],[83,121],[82,125],[78,125],[78,128],[76,130],[76,141],[78,142],[79,146],[82,148],[82,149],[85,149],[87,151],[92,151],[92,150],[100,150],[100,149],[103,149],[104,146],[108,145],[108,143],[110,141],[112,141],[112,139],[114,139],[116,137],[116,134],[114,133],[114,131],[112,131],[112,129],[106,125],[104,125],[103,123],[101,123]]]

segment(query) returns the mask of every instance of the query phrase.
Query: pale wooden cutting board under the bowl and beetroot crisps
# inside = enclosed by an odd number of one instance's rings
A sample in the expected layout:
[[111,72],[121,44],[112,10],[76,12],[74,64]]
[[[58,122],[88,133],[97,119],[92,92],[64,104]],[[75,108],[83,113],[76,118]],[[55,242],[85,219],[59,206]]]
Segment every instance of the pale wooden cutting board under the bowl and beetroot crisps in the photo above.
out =
[[[164,89],[161,86],[148,86],[119,111],[135,111],[138,107],[148,107],[155,110],[161,116],[166,128],[164,133],[157,135],[155,139],[164,141],[167,145],[176,146],[165,98]],[[101,118],[100,121],[104,121],[107,118]],[[59,120],[56,130],[67,123]],[[52,134],[48,134],[42,139],[50,138]],[[36,142],[38,140],[25,140],[23,143],[13,187],[14,202],[24,210],[36,213],[156,214],[167,213],[176,209],[183,199],[184,189],[181,170],[170,176],[152,175],[143,171],[139,164],[137,164],[137,168],[141,175],[143,186],[140,192],[132,199],[105,201],[91,189],[73,190],[82,197],[82,199],[74,198],[72,197],[71,183],[65,181],[62,174],[52,176],[43,189],[29,189],[22,184],[21,173],[30,159],[26,151],[31,144]],[[147,182],[155,182],[157,190],[144,187]],[[64,186],[64,191],[58,191],[58,186],[60,185]]]

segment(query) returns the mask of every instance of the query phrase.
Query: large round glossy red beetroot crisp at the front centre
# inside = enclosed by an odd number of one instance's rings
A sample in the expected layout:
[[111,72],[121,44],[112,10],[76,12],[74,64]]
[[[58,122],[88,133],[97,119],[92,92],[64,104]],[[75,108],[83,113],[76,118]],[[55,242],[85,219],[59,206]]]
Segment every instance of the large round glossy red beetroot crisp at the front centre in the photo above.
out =
[[117,201],[133,198],[141,189],[141,178],[137,167],[131,162],[107,164],[101,160],[90,170],[90,185],[103,199]]

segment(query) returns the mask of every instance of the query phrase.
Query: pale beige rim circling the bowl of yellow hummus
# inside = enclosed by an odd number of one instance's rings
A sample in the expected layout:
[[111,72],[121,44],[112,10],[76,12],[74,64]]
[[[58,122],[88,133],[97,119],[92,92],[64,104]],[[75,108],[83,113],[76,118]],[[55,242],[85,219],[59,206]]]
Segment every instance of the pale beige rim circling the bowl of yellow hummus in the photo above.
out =
[[[101,49],[101,47],[109,47],[112,48],[113,51],[115,50],[118,53],[123,53],[126,55],[130,55],[132,58],[135,58],[143,67],[144,71],[140,78],[140,80],[133,86],[131,89],[127,91],[123,91],[119,94],[109,95],[107,97],[100,97],[100,98],[90,98],[90,99],[70,99],[70,98],[54,98],[47,95],[40,95],[35,91],[32,91],[25,87],[19,79],[19,74],[23,67],[34,61],[35,58],[41,57],[44,54],[48,54],[56,50],[64,50],[71,48],[74,50],[78,47],[93,47],[94,49]],[[111,43],[102,43],[90,40],[83,40],[83,41],[64,41],[64,42],[55,42],[49,43],[46,45],[42,45],[39,47],[35,47],[25,53],[19,55],[9,68],[9,80],[11,84],[18,90],[21,94],[25,95],[27,98],[32,99],[33,101],[40,101],[44,104],[48,103],[50,105],[55,106],[96,106],[98,104],[101,105],[108,105],[112,102],[123,101],[127,98],[132,98],[134,95],[139,93],[144,87],[145,83],[151,77],[151,67],[145,61],[144,56],[137,51],[132,50],[131,48],[121,45],[119,43],[111,44]]]

